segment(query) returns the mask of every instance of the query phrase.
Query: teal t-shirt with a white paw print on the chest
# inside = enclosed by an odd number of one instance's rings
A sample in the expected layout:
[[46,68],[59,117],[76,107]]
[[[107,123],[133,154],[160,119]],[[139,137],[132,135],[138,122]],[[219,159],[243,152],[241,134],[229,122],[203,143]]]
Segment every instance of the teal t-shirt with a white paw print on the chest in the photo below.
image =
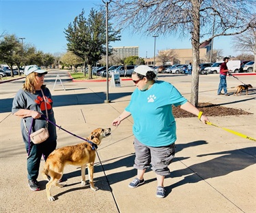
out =
[[177,137],[172,105],[182,105],[186,101],[169,82],[156,81],[146,91],[136,88],[125,109],[134,120],[134,136],[146,146],[173,144]]

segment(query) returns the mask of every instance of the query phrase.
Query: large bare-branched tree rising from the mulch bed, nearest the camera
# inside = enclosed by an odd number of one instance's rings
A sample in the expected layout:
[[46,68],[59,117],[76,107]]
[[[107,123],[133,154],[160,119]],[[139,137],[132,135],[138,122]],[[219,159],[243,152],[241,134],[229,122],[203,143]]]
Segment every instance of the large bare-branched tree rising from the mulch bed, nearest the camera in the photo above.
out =
[[197,106],[199,46],[214,37],[249,29],[256,20],[255,4],[251,0],[116,0],[111,11],[120,27],[132,27],[135,32],[150,36],[189,37],[193,49],[190,102]]

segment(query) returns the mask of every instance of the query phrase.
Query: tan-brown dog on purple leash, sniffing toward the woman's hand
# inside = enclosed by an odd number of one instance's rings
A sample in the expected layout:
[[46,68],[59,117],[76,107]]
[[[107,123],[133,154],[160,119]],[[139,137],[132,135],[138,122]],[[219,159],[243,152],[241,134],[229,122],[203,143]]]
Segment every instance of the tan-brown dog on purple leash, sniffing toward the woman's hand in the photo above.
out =
[[55,198],[51,195],[51,186],[63,187],[58,181],[61,180],[63,175],[63,169],[66,165],[81,166],[81,184],[85,185],[85,167],[88,167],[89,184],[93,191],[98,190],[94,186],[94,161],[96,158],[96,149],[100,145],[102,138],[111,134],[111,129],[98,128],[91,132],[91,135],[87,137],[88,142],[76,144],[74,146],[65,146],[58,148],[51,152],[48,156],[42,176],[44,180],[51,178],[46,184],[46,195],[49,201],[54,201]]

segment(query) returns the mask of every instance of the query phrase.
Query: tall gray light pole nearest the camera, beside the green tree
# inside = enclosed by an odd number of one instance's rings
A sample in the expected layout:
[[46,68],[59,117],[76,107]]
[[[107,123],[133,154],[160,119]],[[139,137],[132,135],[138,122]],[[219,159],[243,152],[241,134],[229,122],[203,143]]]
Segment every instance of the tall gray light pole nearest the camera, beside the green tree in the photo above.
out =
[[106,100],[104,100],[104,103],[110,103],[111,100],[109,100],[109,3],[110,1],[104,1],[102,2],[106,5]]

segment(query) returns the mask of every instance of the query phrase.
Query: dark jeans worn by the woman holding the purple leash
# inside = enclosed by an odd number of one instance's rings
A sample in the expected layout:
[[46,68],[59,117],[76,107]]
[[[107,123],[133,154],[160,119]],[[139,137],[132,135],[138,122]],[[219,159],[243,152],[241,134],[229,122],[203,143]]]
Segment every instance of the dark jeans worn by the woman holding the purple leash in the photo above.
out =
[[[27,178],[29,180],[36,180],[38,178],[40,161],[42,154],[44,154],[45,161],[49,154],[55,150],[57,142],[42,142],[41,144],[30,143],[31,150],[29,157],[27,157]],[[28,152],[28,144],[26,143],[26,149]]]

